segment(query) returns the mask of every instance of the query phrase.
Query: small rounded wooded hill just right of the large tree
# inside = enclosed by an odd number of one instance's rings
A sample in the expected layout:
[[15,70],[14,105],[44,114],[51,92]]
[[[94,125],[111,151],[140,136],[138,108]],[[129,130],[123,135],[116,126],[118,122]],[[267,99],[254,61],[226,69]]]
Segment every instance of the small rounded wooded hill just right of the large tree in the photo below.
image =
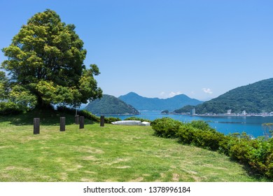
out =
[[102,99],[96,99],[90,102],[85,109],[94,114],[139,114],[139,111],[134,109],[133,106],[108,94],[104,94]]

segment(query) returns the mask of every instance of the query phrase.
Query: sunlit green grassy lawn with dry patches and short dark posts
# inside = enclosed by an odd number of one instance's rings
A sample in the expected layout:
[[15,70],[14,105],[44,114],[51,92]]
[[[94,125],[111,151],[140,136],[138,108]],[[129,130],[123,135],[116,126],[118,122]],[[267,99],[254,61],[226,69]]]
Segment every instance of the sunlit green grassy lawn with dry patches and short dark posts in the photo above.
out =
[[[62,115],[61,115],[62,116]],[[66,116],[0,116],[0,181],[258,181],[228,157],[153,136],[151,127],[99,124]]]

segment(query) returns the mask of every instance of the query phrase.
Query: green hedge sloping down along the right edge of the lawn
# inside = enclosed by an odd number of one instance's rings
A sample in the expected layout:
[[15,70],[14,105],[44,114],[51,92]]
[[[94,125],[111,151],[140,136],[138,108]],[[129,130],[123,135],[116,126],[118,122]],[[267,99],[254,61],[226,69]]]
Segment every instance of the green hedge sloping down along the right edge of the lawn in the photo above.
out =
[[219,151],[273,181],[273,138],[251,139],[245,133],[224,135],[202,120],[182,123],[160,118],[152,126],[158,137],[176,138],[182,144]]

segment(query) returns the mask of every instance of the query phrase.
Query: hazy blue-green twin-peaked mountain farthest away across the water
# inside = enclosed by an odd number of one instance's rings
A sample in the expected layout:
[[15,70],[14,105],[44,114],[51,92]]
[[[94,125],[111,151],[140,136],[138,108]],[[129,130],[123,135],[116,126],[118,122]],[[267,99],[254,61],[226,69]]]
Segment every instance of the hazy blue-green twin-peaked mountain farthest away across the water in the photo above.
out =
[[197,99],[191,99],[185,94],[179,94],[175,97],[168,99],[159,99],[159,98],[147,98],[141,97],[139,94],[135,92],[130,92],[123,96],[118,97],[123,100],[123,102],[134,106],[139,111],[148,110],[148,111],[174,111],[174,109],[178,109],[179,107],[183,107],[186,105],[197,105],[202,102]]

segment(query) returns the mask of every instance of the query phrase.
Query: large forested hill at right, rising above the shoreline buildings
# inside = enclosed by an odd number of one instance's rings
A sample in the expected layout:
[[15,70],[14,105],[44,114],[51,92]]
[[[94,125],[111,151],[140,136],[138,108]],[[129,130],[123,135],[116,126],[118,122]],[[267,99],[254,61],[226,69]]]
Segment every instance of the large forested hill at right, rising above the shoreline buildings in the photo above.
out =
[[[176,113],[189,111],[193,107],[178,109]],[[221,96],[195,106],[196,113],[262,113],[273,111],[273,78],[237,87]]]

